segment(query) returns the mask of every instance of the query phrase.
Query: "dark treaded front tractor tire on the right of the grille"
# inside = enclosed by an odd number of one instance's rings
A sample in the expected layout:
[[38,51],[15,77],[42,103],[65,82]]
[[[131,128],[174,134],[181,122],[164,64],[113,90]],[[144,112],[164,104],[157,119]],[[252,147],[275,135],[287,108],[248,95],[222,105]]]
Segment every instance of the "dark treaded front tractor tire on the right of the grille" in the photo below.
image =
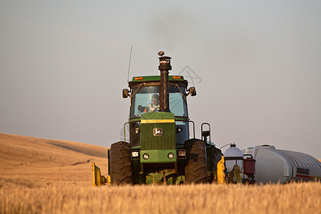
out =
[[203,141],[185,141],[185,183],[207,183],[206,149]]

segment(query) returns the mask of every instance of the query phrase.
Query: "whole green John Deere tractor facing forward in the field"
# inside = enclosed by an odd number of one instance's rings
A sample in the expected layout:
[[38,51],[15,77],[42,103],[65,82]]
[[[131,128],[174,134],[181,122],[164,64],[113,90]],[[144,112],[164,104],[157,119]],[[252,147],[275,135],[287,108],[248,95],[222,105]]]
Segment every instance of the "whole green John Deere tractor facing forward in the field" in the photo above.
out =
[[225,183],[224,157],[210,142],[210,124],[202,124],[202,139],[196,139],[188,118],[187,96],[195,96],[195,88],[183,76],[169,76],[170,57],[158,55],[161,76],[133,77],[123,89],[123,98],[131,99],[124,125],[129,143],[108,149],[107,178],[93,163],[93,185]]

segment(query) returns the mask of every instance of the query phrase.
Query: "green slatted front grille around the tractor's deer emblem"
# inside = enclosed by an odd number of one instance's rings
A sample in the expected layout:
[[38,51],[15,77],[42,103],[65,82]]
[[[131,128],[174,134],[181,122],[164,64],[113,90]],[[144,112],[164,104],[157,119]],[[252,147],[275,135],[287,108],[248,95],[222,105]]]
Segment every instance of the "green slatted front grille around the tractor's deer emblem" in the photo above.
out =
[[[163,136],[153,136],[154,128],[162,128]],[[175,149],[175,123],[142,123],[141,150]]]

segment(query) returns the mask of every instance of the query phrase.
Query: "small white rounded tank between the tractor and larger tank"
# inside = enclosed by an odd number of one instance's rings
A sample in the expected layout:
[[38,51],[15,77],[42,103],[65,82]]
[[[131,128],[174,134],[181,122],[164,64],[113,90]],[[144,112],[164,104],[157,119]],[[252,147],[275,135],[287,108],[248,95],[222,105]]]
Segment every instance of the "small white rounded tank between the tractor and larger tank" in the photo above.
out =
[[243,170],[243,152],[232,144],[224,153],[224,160],[228,173],[233,170],[233,166],[238,164],[240,170]]

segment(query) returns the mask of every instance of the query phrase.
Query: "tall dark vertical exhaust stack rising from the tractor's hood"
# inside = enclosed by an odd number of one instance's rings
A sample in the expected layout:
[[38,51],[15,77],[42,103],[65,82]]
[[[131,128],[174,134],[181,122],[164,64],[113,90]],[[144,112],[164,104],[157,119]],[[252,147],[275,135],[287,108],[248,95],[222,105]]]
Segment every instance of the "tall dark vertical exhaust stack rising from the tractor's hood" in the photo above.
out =
[[168,73],[172,70],[170,66],[170,57],[163,56],[165,53],[159,51],[159,66],[158,70],[161,71],[161,87],[159,88],[159,101],[160,101],[160,111],[170,112],[169,109],[169,82],[168,82]]

